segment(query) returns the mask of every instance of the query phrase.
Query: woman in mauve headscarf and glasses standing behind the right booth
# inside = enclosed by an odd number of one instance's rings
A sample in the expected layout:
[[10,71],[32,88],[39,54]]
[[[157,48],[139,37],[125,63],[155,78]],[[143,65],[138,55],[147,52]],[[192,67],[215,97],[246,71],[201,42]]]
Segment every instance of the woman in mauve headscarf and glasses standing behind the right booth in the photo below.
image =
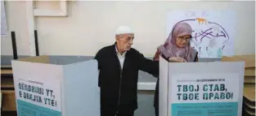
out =
[[[154,61],[161,55],[169,62],[197,62],[198,52],[190,45],[192,28],[187,23],[178,23],[173,27],[164,45],[160,45],[155,53]],[[159,79],[155,87],[155,115],[159,115]]]

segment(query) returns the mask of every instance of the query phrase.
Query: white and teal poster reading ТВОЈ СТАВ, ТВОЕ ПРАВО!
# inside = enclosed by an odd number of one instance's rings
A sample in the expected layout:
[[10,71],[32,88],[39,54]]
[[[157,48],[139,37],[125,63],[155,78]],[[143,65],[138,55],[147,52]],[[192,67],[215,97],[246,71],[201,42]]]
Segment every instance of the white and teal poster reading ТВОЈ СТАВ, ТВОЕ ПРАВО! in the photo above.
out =
[[169,115],[238,116],[239,81],[236,73],[172,75]]

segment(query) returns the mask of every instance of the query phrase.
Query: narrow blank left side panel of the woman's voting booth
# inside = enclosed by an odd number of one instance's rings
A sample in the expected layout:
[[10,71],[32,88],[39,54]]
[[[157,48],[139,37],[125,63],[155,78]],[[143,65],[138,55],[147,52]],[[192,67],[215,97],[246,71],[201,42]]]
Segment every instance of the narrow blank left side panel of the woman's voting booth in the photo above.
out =
[[159,116],[168,116],[168,62],[159,59]]

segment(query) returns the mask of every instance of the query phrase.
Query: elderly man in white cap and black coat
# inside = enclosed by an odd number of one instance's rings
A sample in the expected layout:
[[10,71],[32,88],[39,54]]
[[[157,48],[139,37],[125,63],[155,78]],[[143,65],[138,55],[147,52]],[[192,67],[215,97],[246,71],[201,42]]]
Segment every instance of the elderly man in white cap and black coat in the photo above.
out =
[[138,71],[159,75],[159,62],[153,62],[132,49],[134,33],[121,26],[115,33],[115,44],[98,51],[101,116],[133,116],[137,110]]

